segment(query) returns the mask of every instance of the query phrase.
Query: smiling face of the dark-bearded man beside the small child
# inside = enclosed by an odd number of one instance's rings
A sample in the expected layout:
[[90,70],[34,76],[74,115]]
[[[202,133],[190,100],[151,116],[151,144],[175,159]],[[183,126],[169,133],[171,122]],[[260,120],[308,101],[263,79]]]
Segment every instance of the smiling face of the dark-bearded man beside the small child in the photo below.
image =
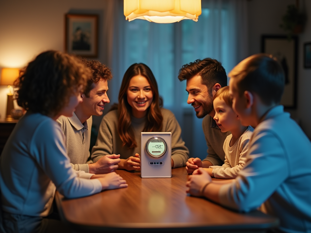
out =
[[213,96],[207,86],[202,84],[200,75],[187,79],[186,91],[189,94],[187,103],[194,107],[198,118],[205,117],[213,110]]

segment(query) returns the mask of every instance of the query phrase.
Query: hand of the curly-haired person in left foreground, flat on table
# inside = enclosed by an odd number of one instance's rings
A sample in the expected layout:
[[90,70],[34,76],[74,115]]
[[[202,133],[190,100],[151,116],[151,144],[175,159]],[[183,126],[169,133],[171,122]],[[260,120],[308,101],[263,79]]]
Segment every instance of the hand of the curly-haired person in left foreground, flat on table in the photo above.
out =
[[102,190],[128,187],[126,180],[123,180],[123,178],[115,172],[104,175],[93,175],[91,179],[98,179],[101,183]]

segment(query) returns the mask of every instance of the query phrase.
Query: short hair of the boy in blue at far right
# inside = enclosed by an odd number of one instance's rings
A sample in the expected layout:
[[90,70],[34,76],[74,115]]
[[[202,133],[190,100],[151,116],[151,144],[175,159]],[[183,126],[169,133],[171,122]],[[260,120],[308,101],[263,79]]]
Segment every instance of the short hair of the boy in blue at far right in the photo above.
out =
[[244,91],[253,91],[268,106],[281,101],[285,86],[284,71],[270,54],[259,53],[244,59],[228,76],[237,79],[240,96]]

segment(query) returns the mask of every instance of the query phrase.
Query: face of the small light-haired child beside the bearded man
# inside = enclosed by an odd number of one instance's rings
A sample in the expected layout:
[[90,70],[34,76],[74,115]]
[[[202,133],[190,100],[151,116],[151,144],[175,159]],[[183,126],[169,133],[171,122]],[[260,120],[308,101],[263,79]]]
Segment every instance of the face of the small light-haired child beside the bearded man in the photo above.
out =
[[221,132],[232,131],[240,126],[239,117],[222,98],[216,97],[213,104],[216,112],[214,120]]

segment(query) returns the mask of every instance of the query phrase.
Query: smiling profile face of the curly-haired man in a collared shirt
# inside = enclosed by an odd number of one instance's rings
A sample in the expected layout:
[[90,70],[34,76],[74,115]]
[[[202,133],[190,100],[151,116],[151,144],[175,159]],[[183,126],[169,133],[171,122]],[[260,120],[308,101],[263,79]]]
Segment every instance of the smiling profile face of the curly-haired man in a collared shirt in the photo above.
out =
[[109,103],[109,98],[107,96],[108,82],[107,80],[100,80],[98,83],[93,83],[93,89],[91,89],[89,96],[86,97],[85,94],[82,95],[83,102],[83,112],[88,116],[101,116],[103,114],[104,106]]

